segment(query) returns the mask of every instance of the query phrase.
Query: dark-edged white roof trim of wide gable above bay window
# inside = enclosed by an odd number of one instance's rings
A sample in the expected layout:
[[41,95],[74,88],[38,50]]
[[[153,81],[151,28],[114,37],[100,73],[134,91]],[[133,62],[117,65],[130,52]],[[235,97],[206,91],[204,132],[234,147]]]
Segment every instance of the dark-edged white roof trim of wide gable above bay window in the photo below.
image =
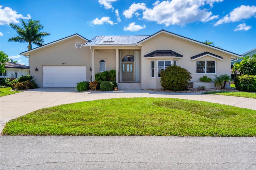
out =
[[200,41],[197,41],[197,40],[193,40],[191,38],[184,37],[182,35],[178,35],[178,34],[175,34],[173,32],[166,31],[166,30],[160,30],[160,31],[150,35],[149,37],[147,37],[147,38],[145,38],[145,39],[143,39],[141,41],[138,41],[137,45],[139,45],[139,44],[143,43],[144,41],[147,41],[147,40],[149,40],[149,39],[153,38],[154,36],[156,36],[158,34],[161,34],[161,33],[166,33],[166,34],[172,35],[174,37],[178,37],[178,38],[181,38],[181,39],[184,39],[184,40],[187,40],[187,41],[191,41],[191,42],[194,42],[194,43],[197,43],[197,44],[209,47],[209,48],[213,48],[213,49],[221,51],[221,52],[225,52],[225,53],[231,54],[231,55],[236,56],[236,57],[241,57],[241,55],[239,55],[239,54],[236,54],[236,53],[233,53],[233,52],[230,52],[230,51],[227,51],[227,50],[223,50],[221,48],[218,48],[218,47],[215,47],[215,46],[212,46],[212,45],[208,45],[208,44],[205,44],[203,42],[200,42]]

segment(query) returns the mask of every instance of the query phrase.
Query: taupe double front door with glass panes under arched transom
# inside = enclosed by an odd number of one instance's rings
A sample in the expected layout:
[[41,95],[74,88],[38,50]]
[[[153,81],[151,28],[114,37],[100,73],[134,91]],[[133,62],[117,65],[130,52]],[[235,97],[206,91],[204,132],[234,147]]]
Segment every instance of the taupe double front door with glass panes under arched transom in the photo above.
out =
[[122,81],[134,81],[134,63],[122,63]]

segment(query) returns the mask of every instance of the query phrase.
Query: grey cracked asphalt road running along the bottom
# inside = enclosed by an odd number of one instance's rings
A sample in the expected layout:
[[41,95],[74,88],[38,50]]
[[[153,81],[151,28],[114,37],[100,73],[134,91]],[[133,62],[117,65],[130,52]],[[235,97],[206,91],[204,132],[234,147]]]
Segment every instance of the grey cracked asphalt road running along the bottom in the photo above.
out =
[[255,137],[0,136],[1,169],[256,169]]

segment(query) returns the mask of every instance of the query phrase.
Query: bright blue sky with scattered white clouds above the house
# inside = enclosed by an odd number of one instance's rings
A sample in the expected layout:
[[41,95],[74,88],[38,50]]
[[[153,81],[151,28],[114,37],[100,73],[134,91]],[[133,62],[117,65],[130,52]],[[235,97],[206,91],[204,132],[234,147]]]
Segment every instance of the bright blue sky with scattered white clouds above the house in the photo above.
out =
[[151,35],[165,29],[242,54],[256,47],[255,6],[256,1],[222,0],[1,1],[0,48],[27,65],[28,59],[19,56],[27,44],[7,42],[16,35],[8,23],[31,18],[40,20],[43,31],[51,33],[45,43],[74,33],[92,39],[97,35]]

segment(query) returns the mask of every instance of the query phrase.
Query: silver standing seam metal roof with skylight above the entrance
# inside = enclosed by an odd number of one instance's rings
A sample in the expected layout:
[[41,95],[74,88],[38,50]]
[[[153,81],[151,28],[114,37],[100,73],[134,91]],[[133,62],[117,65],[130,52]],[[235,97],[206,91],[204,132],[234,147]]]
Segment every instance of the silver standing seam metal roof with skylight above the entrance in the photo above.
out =
[[97,36],[84,45],[132,45],[147,37],[149,35]]

